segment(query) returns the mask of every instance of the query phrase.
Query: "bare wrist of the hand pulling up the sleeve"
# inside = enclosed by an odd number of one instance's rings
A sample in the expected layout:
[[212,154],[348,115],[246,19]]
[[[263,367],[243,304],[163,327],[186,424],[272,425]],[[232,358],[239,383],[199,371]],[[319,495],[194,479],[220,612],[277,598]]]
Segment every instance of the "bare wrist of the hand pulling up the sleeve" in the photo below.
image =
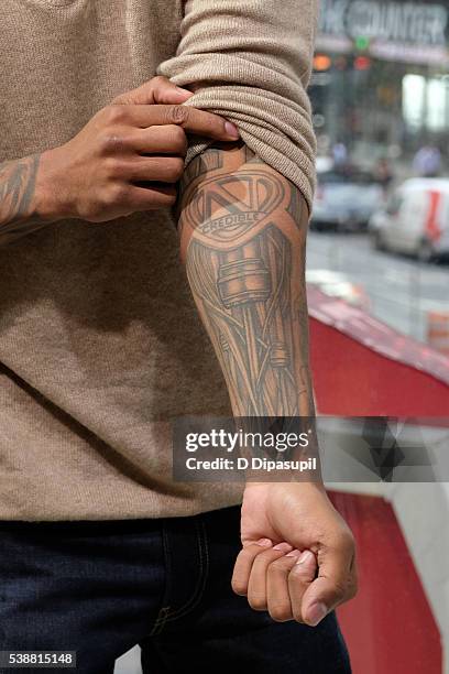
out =
[[69,191],[64,183],[62,149],[42,152],[35,186],[35,213],[41,220],[55,222],[75,217]]

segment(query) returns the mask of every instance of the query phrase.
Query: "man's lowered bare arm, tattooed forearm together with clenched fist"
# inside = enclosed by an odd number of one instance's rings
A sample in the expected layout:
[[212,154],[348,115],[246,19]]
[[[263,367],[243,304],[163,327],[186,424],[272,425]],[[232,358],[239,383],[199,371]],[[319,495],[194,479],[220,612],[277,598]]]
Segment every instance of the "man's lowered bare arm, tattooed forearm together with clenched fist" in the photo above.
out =
[[[314,414],[297,187],[244,145],[193,160],[180,248],[238,416]],[[352,534],[320,481],[247,483],[236,593],[275,620],[317,624],[355,593]]]

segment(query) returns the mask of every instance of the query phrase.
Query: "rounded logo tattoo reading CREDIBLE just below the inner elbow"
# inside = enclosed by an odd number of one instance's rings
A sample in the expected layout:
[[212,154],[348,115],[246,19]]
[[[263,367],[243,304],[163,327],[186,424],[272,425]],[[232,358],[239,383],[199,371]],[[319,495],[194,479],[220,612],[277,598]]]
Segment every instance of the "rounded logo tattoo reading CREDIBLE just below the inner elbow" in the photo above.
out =
[[[285,197],[280,180],[254,168],[248,176],[213,177],[198,188],[187,217],[198,222],[197,238],[242,242],[254,224],[270,218]],[[206,243],[206,241],[205,241]]]

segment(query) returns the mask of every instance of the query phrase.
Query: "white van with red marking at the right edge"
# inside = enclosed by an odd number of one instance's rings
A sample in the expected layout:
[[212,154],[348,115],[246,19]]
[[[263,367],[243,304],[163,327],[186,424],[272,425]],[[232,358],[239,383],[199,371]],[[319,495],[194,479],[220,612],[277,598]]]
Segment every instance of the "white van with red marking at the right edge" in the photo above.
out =
[[369,222],[377,250],[417,256],[423,261],[449,256],[449,180],[410,178]]

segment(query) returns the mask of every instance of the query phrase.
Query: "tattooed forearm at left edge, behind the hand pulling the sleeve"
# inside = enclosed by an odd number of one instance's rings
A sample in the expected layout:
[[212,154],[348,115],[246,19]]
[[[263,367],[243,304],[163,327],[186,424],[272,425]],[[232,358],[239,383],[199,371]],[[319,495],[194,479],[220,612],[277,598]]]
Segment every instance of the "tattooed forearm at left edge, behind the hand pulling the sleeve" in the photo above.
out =
[[40,155],[0,163],[0,246],[46,222],[35,211]]

